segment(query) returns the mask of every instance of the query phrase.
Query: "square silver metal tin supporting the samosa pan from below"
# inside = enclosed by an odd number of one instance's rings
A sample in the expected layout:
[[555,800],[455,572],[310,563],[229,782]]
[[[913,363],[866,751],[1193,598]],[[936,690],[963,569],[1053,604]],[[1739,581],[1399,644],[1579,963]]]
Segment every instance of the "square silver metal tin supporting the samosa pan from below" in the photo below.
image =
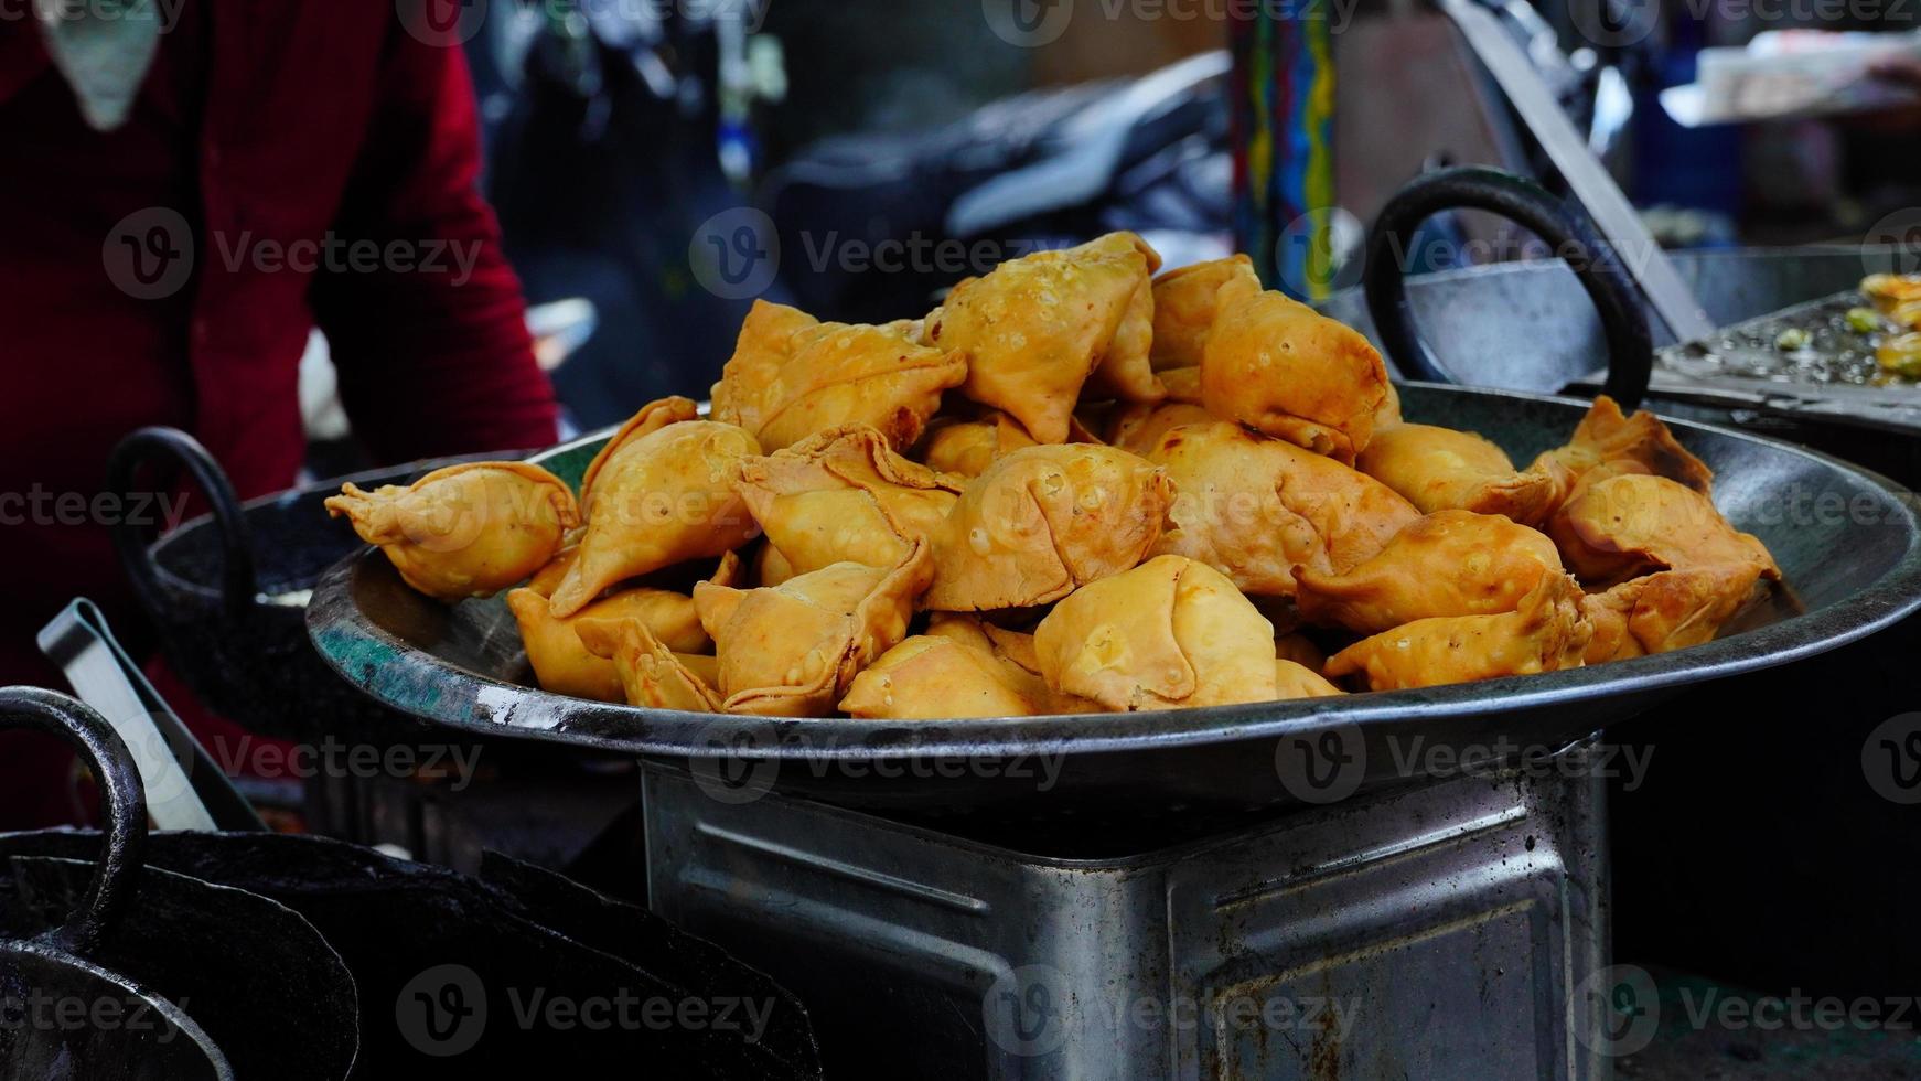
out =
[[1606,1077],[1604,783],[1554,774],[1074,860],[649,766],[649,895],[828,1077]]

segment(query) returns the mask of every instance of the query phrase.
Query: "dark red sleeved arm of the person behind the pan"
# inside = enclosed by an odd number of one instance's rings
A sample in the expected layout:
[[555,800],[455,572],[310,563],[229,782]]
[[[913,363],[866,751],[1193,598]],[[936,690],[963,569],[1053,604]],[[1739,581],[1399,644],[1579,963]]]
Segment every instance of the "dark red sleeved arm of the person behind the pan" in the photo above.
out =
[[382,255],[321,271],[311,294],[340,399],[384,463],[547,445],[553,388],[476,186],[467,61],[388,25],[377,111],[334,223],[342,244],[373,240]]

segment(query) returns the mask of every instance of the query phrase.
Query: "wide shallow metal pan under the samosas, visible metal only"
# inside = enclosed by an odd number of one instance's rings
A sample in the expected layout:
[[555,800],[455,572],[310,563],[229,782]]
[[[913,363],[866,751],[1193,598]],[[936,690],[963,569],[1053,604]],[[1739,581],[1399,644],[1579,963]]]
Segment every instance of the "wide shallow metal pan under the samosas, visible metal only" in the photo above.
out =
[[[1568,397],[1408,384],[1410,420],[1483,432],[1529,461],[1585,411]],[[1758,534],[1787,588],[1719,639],[1571,672],[1339,699],[966,720],[768,720],[647,710],[532,685],[496,597],[444,607],[363,549],[313,591],[321,655],[375,699],[451,728],[699,762],[843,806],[1249,808],[1314,801],[1295,757],[1333,753],[1341,789],[1410,776],[1410,747],[1558,747],[1679,687],[1810,657],[1921,607],[1921,528],[1894,486],[1787,444],[1671,420],[1715,470],[1715,501]],[[576,480],[603,436],[536,455]],[[1420,739],[1420,743],[1414,743]],[[1437,760],[1418,757],[1420,762]],[[745,768],[753,766],[753,768]]]

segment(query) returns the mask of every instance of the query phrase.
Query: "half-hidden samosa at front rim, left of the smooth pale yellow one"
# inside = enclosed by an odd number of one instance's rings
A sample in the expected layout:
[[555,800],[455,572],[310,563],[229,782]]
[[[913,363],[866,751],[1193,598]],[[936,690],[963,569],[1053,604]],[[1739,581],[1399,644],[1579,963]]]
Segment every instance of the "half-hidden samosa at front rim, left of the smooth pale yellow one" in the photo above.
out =
[[[1032,662],[1032,639],[1026,653]],[[1057,693],[1035,668],[1003,651],[980,620],[939,613],[926,634],[901,641],[855,676],[839,709],[863,718],[912,720],[1037,716],[1101,707]]]

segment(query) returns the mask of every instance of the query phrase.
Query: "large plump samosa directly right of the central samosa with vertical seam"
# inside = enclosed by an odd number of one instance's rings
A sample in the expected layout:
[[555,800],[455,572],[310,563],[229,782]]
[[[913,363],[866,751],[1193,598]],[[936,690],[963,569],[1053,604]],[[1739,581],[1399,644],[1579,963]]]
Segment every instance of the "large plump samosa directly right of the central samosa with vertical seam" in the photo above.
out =
[[1291,597],[1297,565],[1345,572],[1420,518],[1372,476],[1226,420],[1166,432],[1147,461],[1176,490],[1156,551],[1199,559],[1247,593]]

